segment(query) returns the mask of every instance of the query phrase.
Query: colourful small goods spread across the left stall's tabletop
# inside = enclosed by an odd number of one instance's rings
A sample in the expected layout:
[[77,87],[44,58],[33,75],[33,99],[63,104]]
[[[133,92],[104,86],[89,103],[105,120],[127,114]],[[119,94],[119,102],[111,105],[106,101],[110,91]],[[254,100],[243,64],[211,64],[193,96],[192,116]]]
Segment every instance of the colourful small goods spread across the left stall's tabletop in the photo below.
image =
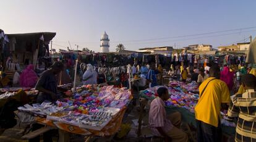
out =
[[56,101],[56,105],[46,102],[27,104],[19,110],[80,128],[101,130],[131,99],[126,88],[87,85],[77,88],[74,96]]

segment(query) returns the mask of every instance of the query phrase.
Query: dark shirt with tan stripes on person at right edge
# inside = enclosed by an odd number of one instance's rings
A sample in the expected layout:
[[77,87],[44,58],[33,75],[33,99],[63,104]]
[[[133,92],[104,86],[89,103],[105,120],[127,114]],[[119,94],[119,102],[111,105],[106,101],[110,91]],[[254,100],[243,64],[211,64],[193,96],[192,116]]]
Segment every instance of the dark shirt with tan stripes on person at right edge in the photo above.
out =
[[256,141],[256,91],[246,90],[236,94],[230,102],[228,117],[239,117],[236,126],[236,141]]

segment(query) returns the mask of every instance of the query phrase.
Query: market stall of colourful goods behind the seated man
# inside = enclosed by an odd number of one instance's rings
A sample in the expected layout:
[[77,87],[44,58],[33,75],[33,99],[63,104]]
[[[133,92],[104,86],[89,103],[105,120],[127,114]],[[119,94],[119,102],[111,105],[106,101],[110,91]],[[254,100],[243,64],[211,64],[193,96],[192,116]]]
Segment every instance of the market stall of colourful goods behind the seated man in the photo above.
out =
[[[157,90],[160,87],[161,86],[155,86],[153,88],[140,91],[139,96],[141,108],[144,108],[147,104],[150,104],[150,101],[158,96]],[[185,84],[179,81],[170,81],[169,86],[164,87],[168,88],[169,94],[171,94],[170,98],[165,102],[166,112],[168,114],[176,111],[181,112],[182,120],[196,128],[197,125],[195,122],[194,108],[199,98],[197,83],[192,81],[191,83]],[[143,115],[140,117],[143,117]],[[139,119],[139,121],[141,120],[142,118]],[[233,122],[228,122],[227,120],[221,119],[221,127],[223,133],[226,135],[234,135],[236,132],[236,124]],[[138,135],[140,135],[140,127]]]

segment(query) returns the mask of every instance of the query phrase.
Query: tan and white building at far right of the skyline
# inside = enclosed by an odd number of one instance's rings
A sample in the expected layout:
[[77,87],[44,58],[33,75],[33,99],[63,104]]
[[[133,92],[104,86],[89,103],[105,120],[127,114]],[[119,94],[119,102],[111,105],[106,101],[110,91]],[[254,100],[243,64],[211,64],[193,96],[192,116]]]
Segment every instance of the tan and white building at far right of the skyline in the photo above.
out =
[[237,43],[229,46],[219,46],[218,51],[248,51],[250,43]]

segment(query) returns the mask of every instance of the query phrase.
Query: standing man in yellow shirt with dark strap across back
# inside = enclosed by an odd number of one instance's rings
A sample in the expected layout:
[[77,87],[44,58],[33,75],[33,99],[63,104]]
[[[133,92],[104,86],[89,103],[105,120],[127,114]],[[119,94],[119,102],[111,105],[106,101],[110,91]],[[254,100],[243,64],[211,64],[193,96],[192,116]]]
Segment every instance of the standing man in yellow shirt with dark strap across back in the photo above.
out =
[[199,86],[200,98],[195,106],[198,141],[221,141],[220,110],[228,109],[229,89],[220,80],[220,68],[210,68],[210,77]]

